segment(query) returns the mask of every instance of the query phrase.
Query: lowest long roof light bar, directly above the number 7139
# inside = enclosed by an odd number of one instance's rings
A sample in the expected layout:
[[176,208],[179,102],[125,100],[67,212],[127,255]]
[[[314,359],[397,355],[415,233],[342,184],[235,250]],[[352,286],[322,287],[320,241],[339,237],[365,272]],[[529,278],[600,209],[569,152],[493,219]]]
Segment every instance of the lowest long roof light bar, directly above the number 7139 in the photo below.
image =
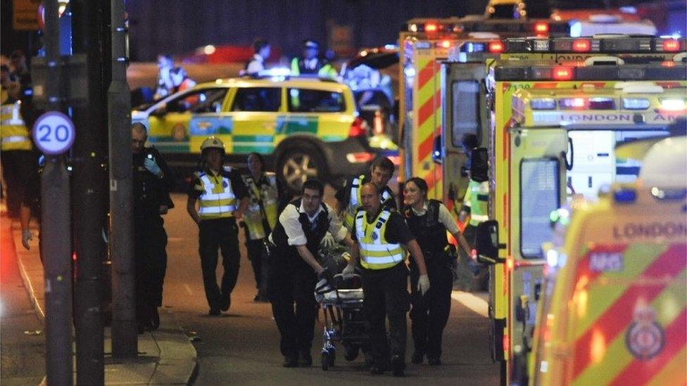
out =
[[685,79],[687,67],[662,65],[594,65],[565,67],[559,65],[497,65],[496,81],[563,80],[679,80]]

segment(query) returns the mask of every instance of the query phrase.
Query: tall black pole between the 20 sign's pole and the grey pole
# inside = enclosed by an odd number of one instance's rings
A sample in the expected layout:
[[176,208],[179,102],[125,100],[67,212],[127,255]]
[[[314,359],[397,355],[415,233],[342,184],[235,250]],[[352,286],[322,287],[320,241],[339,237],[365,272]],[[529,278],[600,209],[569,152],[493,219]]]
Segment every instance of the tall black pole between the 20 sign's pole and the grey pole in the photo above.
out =
[[70,1],[73,52],[87,56],[88,103],[74,108],[73,214],[76,260],[75,326],[77,384],[105,383],[103,333],[103,262],[107,249],[106,95],[99,1]]

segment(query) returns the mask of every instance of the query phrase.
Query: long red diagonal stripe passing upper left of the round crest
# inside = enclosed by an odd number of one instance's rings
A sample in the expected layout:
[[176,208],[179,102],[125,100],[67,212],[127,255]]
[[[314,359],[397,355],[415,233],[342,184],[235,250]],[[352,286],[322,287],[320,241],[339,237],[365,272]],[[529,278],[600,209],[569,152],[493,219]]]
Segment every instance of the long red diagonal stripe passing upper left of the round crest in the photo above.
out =
[[[672,279],[679,275],[687,266],[685,247],[684,244],[672,245],[669,250],[645,269],[642,276],[645,278]],[[618,300],[607,307],[605,313],[595,321],[593,328],[586,330],[586,333],[575,342],[573,379],[578,378],[584,369],[592,364],[593,335],[602,335],[605,342],[614,340],[632,320],[632,312],[626,310],[633,309],[637,298],[642,297],[645,302],[651,302],[668,285],[669,283],[653,286],[632,285]]]

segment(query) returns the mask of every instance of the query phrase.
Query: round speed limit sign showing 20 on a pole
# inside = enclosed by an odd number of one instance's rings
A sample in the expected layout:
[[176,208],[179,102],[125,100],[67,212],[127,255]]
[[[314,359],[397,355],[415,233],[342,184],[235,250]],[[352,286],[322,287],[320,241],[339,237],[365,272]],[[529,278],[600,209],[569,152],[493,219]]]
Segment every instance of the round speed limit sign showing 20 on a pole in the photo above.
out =
[[74,143],[74,122],[61,112],[49,111],[38,117],[33,125],[33,141],[45,154],[58,155]]

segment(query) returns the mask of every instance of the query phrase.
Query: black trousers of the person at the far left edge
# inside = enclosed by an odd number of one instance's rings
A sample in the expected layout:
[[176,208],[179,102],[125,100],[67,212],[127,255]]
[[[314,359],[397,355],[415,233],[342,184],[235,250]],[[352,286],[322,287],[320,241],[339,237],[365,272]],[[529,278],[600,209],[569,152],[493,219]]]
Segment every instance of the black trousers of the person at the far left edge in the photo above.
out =
[[7,191],[7,212],[19,217],[21,202],[30,205],[31,188],[39,189],[37,157],[31,150],[6,150],[1,154],[2,174]]

